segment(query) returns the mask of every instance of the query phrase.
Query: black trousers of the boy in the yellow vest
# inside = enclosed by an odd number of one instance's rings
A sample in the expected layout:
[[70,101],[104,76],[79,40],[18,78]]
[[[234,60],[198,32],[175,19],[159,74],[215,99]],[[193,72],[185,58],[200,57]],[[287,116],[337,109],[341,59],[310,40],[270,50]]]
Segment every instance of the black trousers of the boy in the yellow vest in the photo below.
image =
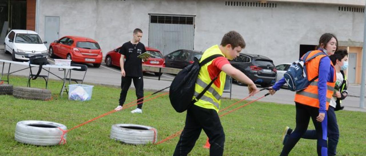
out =
[[219,114],[214,109],[206,109],[192,105],[187,110],[186,125],[173,156],[186,156],[191,152],[201,130],[205,131],[209,138],[210,156],[222,156],[224,153],[225,133],[221,125]]

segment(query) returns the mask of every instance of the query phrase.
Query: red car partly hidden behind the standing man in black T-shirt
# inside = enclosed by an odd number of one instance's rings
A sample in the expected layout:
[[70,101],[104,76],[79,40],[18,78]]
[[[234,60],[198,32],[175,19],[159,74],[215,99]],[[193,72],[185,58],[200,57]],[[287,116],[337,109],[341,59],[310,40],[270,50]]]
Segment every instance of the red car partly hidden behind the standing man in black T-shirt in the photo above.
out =
[[[119,59],[121,58],[121,54],[118,53],[119,51],[118,47],[115,50],[107,52],[107,55],[105,55],[105,64],[108,67],[117,66],[119,65]],[[147,61],[142,61],[142,65],[149,65],[149,66],[157,66],[157,67],[165,67],[165,60],[164,56],[161,55],[160,51],[154,48],[145,47],[146,52],[151,54],[150,58],[147,59]],[[162,73],[154,73],[157,76],[160,76]]]

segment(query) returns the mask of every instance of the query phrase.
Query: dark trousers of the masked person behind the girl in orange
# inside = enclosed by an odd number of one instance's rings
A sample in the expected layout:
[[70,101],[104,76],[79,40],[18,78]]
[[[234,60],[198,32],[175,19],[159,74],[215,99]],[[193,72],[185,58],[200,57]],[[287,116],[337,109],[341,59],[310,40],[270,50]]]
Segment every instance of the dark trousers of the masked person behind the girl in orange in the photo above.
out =
[[[334,108],[328,108],[328,156],[335,156],[337,151],[337,144],[339,139],[339,129],[337,124],[336,113]],[[315,130],[306,130],[302,136],[304,139],[317,139],[317,132]]]

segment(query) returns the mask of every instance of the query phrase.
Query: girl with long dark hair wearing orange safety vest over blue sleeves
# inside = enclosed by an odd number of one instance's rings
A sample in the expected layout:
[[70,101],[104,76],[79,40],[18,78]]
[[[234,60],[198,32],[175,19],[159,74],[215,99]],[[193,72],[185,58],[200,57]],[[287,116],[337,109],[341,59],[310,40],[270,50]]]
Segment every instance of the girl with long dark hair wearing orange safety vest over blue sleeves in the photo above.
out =
[[[308,58],[324,52],[324,55],[316,56],[306,62],[307,78],[309,81],[318,76],[310,85],[295,94],[296,106],[296,128],[290,134],[281,152],[281,156],[286,156],[294,148],[300,137],[307,130],[310,117],[313,120],[317,133],[317,153],[319,156],[328,155],[327,148],[327,110],[336,81],[336,72],[329,55],[333,55],[337,50],[337,38],[335,35],[326,33],[319,39],[316,50],[312,51]],[[270,87],[269,93],[275,94],[285,83],[284,78]]]

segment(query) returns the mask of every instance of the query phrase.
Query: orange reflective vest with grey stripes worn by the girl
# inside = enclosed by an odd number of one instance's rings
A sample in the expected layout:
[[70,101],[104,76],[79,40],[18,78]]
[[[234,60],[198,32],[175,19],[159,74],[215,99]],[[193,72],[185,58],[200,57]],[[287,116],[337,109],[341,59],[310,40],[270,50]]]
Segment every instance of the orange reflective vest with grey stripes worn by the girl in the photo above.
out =
[[[321,52],[320,50],[314,50],[310,52],[310,54],[307,56],[307,58],[310,58],[311,56],[317,54],[318,52]],[[312,60],[306,62],[306,72],[307,72],[307,79],[311,81],[311,79],[315,78],[319,75],[319,63],[320,59],[323,57],[326,57],[327,55],[319,55],[313,58]],[[333,67],[333,81],[332,82],[326,82],[327,90],[326,90],[326,110],[328,110],[330,99],[333,95],[333,90],[336,82],[336,71],[333,66],[332,61],[330,61],[330,65]],[[295,94],[295,102],[298,102],[300,104],[320,108],[319,106],[319,98],[318,98],[318,81],[319,78],[315,79],[315,81],[311,82],[310,85],[302,90],[298,91]]]

